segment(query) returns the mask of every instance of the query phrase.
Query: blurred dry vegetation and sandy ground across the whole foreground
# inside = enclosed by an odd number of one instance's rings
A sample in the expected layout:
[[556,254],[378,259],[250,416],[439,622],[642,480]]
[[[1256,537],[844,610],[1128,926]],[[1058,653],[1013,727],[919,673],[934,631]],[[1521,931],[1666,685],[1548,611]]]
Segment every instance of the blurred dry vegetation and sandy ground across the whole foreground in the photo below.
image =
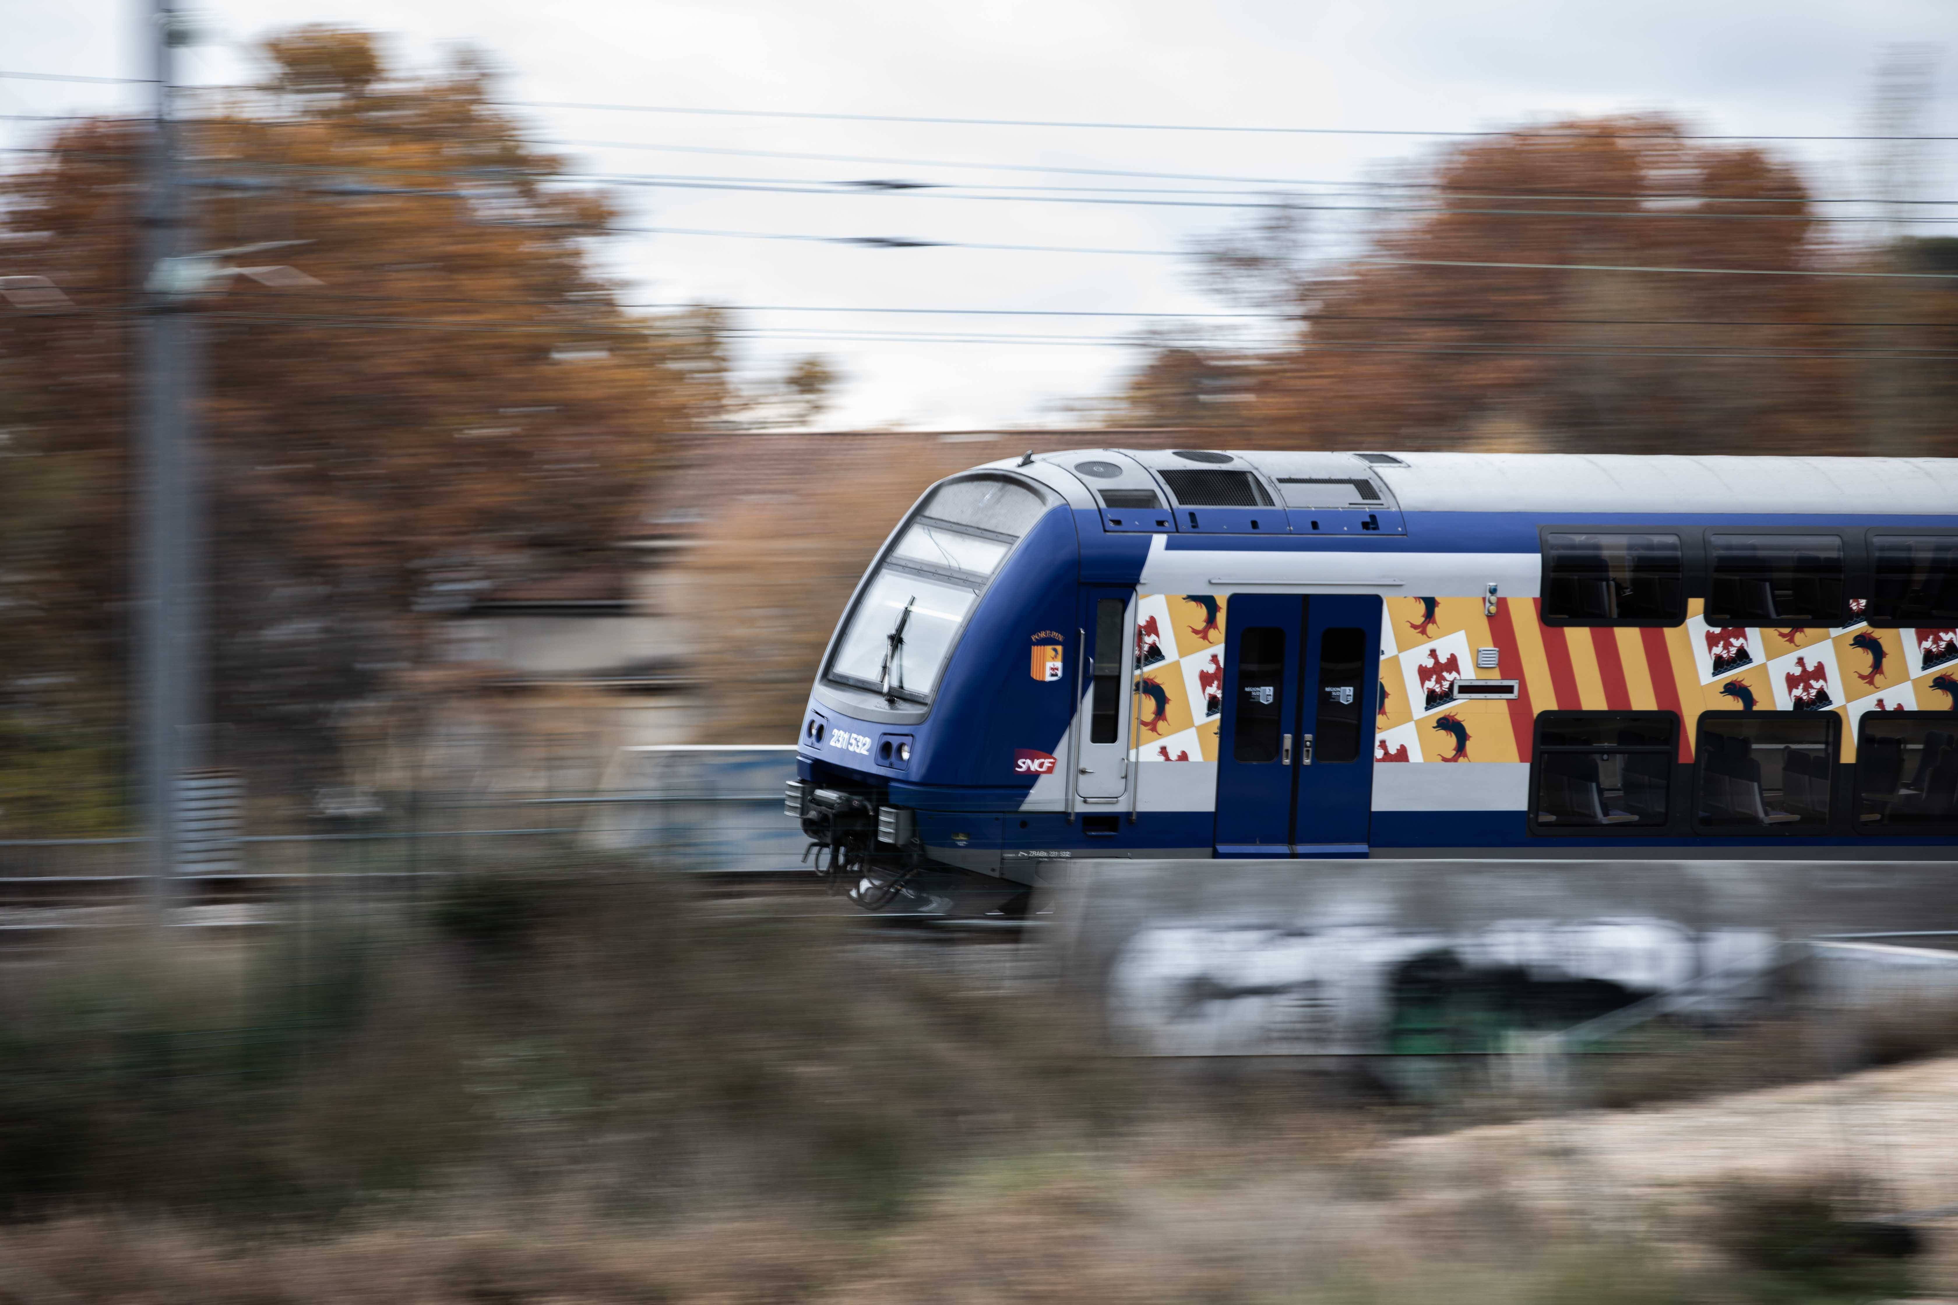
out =
[[[1012,949],[961,949],[1008,967],[961,976],[797,914],[582,865],[239,951],[14,967],[0,1301],[1609,1305],[1958,1282],[1935,1237],[1899,1256],[1909,1235],[1868,1221],[1936,1203],[1954,1062],[1459,1129],[1496,1105],[1102,1060],[1081,1012],[1018,980],[1001,1000]],[[1909,1164],[1819,1182],[1870,1111],[1862,1160],[1915,1133]]]

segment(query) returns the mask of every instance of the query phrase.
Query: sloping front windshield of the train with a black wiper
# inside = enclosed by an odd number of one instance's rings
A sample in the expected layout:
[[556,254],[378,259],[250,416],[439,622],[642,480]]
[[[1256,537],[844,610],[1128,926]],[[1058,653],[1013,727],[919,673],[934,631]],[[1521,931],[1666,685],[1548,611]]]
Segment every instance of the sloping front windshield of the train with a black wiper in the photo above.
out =
[[863,587],[830,679],[930,702],[965,614],[1046,509],[1036,491],[997,475],[932,491]]

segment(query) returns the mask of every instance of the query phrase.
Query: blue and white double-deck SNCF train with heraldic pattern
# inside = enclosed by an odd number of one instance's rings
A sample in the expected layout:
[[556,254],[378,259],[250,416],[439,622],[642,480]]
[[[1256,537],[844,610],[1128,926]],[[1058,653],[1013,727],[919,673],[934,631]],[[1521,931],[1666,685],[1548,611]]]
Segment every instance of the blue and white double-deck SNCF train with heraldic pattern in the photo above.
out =
[[1081,859],[1948,861],[1954,708],[1958,460],[1028,452],[879,548],[785,810],[999,918]]

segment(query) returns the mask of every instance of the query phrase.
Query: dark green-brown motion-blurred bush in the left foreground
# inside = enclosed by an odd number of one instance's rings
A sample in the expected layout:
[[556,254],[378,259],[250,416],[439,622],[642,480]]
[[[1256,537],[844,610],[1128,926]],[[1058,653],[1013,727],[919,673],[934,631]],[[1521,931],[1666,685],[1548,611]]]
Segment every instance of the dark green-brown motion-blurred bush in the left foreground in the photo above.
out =
[[989,1141],[1120,1111],[1065,1012],[850,937],[599,865],[243,955],[69,957],[0,996],[0,1209],[296,1217],[468,1174],[869,1215]]

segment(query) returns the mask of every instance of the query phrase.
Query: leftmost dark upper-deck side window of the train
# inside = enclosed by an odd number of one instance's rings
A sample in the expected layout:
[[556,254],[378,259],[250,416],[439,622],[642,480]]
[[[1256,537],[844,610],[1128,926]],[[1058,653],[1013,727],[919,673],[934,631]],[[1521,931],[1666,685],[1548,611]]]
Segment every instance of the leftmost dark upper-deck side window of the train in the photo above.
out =
[[1566,626],[1676,626],[1686,556],[1676,534],[1545,534],[1543,620]]

